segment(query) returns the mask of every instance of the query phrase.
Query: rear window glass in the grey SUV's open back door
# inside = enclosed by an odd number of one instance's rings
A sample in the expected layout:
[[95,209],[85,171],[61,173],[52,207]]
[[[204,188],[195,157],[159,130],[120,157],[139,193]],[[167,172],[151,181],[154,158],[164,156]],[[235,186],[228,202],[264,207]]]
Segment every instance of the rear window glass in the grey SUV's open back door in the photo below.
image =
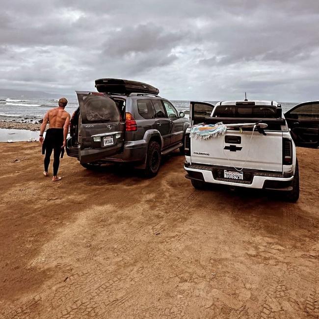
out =
[[120,122],[124,100],[113,100],[106,96],[78,95],[82,123]]

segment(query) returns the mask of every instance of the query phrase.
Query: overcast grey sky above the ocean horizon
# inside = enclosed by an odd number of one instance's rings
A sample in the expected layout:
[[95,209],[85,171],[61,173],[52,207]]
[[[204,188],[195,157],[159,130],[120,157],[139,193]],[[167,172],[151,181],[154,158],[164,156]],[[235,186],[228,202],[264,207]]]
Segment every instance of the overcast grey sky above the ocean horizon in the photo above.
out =
[[172,100],[319,99],[319,0],[2,0],[0,88],[98,78]]

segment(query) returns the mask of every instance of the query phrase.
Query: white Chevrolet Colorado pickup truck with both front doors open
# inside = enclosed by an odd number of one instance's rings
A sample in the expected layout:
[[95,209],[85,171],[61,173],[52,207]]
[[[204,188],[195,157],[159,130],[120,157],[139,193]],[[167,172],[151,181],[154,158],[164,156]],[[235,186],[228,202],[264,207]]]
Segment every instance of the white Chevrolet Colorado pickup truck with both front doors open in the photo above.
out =
[[[288,201],[298,200],[295,146],[319,147],[319,101],[299,104],[285,114],[274,101],[226,101],[215,106],[190,102],[189,117],[184,168],[195,188],[206,183],[263,188],[282,191]],[[220,122],[228,125],[224,134],[207,139],[190,134],[195,125]]]

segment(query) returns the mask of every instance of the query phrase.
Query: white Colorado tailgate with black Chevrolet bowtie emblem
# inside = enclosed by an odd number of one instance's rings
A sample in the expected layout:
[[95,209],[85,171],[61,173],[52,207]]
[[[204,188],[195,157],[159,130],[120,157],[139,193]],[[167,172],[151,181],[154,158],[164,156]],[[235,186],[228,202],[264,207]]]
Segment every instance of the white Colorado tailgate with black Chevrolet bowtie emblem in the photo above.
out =
[[[227,130],[209,139],[190,139],[191,161],[217,166],[282,172],[282,132]],[[228,137],[227,137],[228,136]]]

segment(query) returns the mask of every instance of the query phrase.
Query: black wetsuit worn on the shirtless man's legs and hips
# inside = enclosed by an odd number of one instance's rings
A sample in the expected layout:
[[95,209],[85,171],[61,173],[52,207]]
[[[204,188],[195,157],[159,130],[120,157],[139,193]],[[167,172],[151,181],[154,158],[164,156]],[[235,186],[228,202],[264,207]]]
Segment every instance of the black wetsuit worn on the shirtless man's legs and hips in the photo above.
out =
[[47,172],[49,169],[50,158],[53,153],[53,176],[57,175],[60,165],[60,156],[63,149],[63,129],[49,129],[43,143],[45,150],[44,170]]

